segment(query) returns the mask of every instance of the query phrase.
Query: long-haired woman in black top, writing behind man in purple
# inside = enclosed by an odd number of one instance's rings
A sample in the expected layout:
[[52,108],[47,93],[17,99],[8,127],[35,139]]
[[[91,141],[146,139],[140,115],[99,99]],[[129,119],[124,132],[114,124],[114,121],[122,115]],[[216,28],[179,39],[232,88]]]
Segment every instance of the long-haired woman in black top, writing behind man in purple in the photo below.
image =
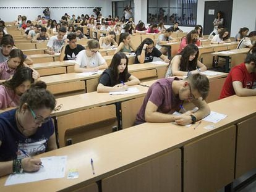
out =
[[137,85],[140,80],[128,72],[128,58],[123,52],[114,54],[109,68],[99,80],[97,92],[126,91],[129,85]]

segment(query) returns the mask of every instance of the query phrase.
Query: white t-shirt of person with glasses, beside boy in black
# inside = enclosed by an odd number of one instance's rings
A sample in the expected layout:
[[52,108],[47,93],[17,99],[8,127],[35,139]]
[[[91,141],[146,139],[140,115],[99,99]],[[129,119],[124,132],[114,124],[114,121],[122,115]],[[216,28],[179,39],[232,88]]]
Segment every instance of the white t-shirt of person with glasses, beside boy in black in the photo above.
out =
[[81,68],[93,68],[103,65],[106,61],[101,56],[100,52],[96,52],[92,57],[88,57],[86,50],[80,51],[77,54],[76,64],[80,65]]

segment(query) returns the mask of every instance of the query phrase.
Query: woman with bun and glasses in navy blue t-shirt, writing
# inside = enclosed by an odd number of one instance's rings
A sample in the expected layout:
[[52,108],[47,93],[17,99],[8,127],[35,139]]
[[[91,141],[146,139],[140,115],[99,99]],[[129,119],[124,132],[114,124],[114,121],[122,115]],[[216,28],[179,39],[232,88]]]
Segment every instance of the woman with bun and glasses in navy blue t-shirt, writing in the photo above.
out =
[[18,109],[0,114],[0,176],[36,172],[41,167],[40,159],[27,157],[24,152],[35,156],[57,149],[50,117],[55,105],[46,84],[38,81],[22,94]]

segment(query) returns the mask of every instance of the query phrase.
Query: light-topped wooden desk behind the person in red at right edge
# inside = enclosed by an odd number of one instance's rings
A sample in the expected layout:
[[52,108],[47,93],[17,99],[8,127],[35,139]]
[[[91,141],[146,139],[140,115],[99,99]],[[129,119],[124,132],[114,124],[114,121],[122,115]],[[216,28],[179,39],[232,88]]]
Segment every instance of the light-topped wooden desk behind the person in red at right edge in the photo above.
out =
[[[218,59],[224,58],[225,59],[225,65],[224,65],[224,72],[229,72],[229,59],[232,59],[233,57],[236,58],[236,61],[231,62],[231,67],[234,67],[234,65],[241,64],[244,61],[244,58],[246,54],[248,53],[249,48],[243,48],[243,49],[233,49],[230,51],[220,51],[220,52],[213,52],[213,56],[218,56]],[[240,57],[240,58],[239,58]]]

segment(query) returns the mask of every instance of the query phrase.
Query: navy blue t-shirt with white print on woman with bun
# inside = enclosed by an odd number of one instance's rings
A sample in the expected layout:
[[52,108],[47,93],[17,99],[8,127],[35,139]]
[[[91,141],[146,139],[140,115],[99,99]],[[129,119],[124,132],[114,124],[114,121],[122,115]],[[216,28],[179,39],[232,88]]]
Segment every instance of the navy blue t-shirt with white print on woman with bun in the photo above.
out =
[[25,154],[19,149],[23,149],[30,156],[45,152],[49,137],[54,133],[53,122],[50,120],[42,124],[34,135],[23,135],[17,127],[16,110],[0,114],[0,161],[24,158]]

